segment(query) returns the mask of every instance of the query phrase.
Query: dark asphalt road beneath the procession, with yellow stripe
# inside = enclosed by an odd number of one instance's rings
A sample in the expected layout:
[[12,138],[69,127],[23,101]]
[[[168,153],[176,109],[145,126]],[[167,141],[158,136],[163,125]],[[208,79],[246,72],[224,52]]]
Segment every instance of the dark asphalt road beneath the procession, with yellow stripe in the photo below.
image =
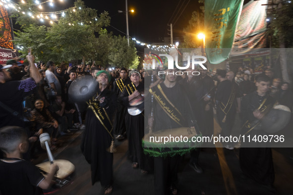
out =
[[[215,131],[219,126],[215,123]],[[82,132],[63,137],[64,143],[54,151],[56,159],[67,159],[75,165],[74,181],[56,195],[99,195],[103,194],[100,183],[91,185],[90,166],[80,151]],[[142,175],[140,170],[131,168],[126,157],[127,140],[117,142],[114,154],[114,191],[112,195],[153,195],[154,177]],[[239,150],[222,147],[201,148],[199,163],[204,173],[196,174],[189,166],[189,156],[182,158],[178,174],[178,195],[290,195],[293,194],[292,148],[273,148],[276,173],[276,193],[271,193],[257,183],[243,179],[238,163]],[[34,163],[43,161],[43,153]]]

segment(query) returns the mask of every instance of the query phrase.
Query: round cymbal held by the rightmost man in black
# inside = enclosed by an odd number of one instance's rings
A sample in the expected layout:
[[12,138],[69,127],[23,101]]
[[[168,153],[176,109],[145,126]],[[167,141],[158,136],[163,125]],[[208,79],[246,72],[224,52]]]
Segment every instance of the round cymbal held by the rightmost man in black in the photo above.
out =
[[267,133],[276,133],[289,123],[291,111],[285,105],[274,106],[261,121],[262,130]]

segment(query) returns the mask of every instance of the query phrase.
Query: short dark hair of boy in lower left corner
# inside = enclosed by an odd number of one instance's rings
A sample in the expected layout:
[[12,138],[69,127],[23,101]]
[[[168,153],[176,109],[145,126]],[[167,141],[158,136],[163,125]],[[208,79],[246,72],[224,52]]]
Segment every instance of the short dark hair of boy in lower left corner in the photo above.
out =
[[0,149],[5,153],[15,151],[17,146],[27,138],[25,129],[16,126],[0,128]]

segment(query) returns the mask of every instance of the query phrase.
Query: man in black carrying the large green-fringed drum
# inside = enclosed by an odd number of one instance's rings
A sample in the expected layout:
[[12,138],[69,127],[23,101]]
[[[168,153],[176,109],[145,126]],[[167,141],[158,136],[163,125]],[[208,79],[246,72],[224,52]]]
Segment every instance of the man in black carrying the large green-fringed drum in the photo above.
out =
[[[176,70],[166,70],[165,81],[149,90],[149,95],[152,95],[152,97],[147,97],[145,107],[153,110],[153,116],[151,113],[146,113],[148,125],[153,133],[194,126],[195,120],[190,109],[187,93],[183,86],[177,82]],[[154,99],[152,103],[150,98]],[[172,132],[170,133],[172,134]],[[177,194],[177,172],[181,155],[184,152],[186,151],[183,151],[181,147],[171,149],[167,156],[157,155],[157,152],[149,152],[150,155],[154,156],[154,182],[157,195]]]

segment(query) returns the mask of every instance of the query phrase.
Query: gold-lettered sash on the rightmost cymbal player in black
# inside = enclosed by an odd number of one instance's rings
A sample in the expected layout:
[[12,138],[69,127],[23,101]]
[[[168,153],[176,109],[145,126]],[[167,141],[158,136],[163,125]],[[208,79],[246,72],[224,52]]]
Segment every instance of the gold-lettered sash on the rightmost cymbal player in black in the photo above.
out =
[[[275,104],[276,100],[274,100],[273,98],[265,98],[261,104],[259,105],[259,107],[257,108],[257,110],[259,110],[261,113],[263,114],[267,114],[270,112],[270,110],[273,108],[274,104]],[[260,124],[260,120],[257,121],[246,121],[243,126],[241,127],[241,129],[243,129],[243,132],[246,132],[246,134],[248,134],[251,130],[253,130],[257,125]]]

